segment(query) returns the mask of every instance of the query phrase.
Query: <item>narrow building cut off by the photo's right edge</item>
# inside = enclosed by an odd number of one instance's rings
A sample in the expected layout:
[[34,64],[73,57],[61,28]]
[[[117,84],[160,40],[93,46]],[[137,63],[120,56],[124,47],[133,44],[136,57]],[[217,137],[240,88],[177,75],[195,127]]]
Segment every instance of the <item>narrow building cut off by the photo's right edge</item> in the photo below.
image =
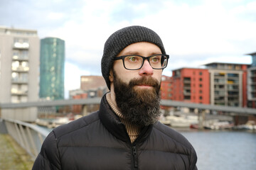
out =
[[252,65],[247,69],[247,106],[256,108],[256,52],[247,55],[252,56]]

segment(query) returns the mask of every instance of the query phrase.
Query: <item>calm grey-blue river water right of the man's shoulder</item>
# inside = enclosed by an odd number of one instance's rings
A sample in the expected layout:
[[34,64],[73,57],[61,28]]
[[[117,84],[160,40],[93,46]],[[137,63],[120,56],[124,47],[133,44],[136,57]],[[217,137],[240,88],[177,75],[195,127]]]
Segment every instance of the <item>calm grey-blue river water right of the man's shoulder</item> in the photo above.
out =
[[177,131],[196,149],[199,170],[256,170],[256,132]]

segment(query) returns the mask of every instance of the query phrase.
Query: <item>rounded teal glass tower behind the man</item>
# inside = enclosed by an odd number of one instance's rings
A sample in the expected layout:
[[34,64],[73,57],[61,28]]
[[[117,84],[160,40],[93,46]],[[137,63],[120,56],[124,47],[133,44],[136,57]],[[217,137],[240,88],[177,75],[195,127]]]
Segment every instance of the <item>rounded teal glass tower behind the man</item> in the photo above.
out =
[[64,98],[65,41],[44,38],[40,50],[40,98]]

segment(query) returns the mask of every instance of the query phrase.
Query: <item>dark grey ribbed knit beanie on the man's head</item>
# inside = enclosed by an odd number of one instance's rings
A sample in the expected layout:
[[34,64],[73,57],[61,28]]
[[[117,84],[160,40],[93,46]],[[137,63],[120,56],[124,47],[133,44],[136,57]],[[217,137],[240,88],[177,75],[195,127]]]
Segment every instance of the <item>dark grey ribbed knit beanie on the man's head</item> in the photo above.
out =
[[161,38],[149,28],[143,26],[129,26],[122,28],[121,30],[117,30],[110,35],[110,38],[105,42],[101,62],[102,76],[104,77],[109,89],[109,75],[110,69],[113,67],[114,57],[119,55],[125,47],[135,42],[151,42],[161,49],[162,54],[166,54]]

